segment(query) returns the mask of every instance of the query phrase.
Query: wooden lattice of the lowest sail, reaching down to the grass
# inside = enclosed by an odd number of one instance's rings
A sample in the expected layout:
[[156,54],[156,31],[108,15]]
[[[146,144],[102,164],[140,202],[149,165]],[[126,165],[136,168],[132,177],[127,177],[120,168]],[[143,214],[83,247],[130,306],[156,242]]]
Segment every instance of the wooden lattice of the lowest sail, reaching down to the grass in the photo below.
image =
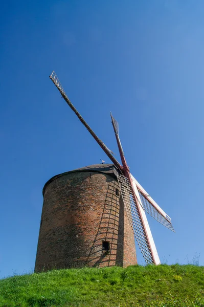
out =
[[146,234],[144,232],[144,227],[141,221],[139,210],[137,204],[135,204],[135,201],[133,199],[132,188],[129,184],[128,179],[122,175],[118,175],[118,182],[127,216],[133,228],[135,238],[137,239],[138,245],[147,264],[153,264],[154,261],[151,255]]

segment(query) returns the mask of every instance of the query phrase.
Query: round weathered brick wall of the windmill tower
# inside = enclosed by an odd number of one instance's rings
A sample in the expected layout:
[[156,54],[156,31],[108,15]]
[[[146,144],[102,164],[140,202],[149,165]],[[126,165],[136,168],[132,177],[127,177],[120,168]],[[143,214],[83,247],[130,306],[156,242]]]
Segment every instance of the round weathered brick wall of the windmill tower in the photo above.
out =
[[[109,242],[109,252],[102,250],[103,240]],[[136,263],[133,231],[117,180],[79,171],[46,185],[35,271]]]

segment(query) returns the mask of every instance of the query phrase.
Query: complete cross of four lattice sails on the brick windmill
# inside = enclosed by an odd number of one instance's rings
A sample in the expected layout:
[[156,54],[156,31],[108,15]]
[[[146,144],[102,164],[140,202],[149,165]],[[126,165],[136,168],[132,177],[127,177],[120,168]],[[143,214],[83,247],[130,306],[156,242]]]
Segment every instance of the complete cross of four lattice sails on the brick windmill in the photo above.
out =
[[127,165],[121,141],[119,138],[119,124],[116,119],[111,116],[112,126],[114,127],[114,132],[120,152],[120,157],[122,165],[113,156],[113,152],[108,149],[108,147],[98,138],[94,133],[92,128],[86,123],[82,118],[80,113],[71,103],[70,99],[67,97],[56,73],[53,71],[50,75],[50,79],[53,81],[57,89],[59,90],[62,98],[71,107],[74,113],[77,115],[82,124],[87,128],[89,133],[94,137],[97,143],[104,150],[108,158],[114,163],[118,169],[118,183],[120,186],[121,196],[123,199],[124,207],[129,218],[129,222],[132,226],[134,236],[138,242],[140,250],[145,258],[147,264],[160,264],[160,258],[154,244],[154,240],[151,234],[151,230],[147,221],[145,212],[149,213],[155,220],[171,231],[175,232],[171,224],[171,218],[156,204],[156,202],[151,198],[151,196],[145,191],[145,189],[139,184],[139,182],[130,173],[129,167]]

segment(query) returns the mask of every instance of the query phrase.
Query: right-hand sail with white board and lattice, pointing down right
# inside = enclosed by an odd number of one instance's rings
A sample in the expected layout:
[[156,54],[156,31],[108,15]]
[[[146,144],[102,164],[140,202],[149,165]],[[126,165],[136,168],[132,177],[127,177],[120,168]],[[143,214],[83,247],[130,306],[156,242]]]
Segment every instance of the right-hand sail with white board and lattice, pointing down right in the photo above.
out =
[[145,189],[139,184],[139,182],[132,176],[131,179],[135,182],[142,202],[144,210],[149,213],[155,220],[171,231],[175,232],[172,224],[171,218],[156,204],[156,202],[151,198],[151,196],[145,191]]

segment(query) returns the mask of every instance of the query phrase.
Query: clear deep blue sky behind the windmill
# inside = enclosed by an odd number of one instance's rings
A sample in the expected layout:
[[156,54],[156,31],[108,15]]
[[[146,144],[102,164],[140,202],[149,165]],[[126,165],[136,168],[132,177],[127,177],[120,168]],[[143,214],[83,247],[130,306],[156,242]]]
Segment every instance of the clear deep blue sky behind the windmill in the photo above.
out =
[[109,162],[60,98],[53,70],[115,152],[109,111],[119,121],[133,176],[176,230],[148,216],[161,260],[200,253],[204,265],[203,11],[202,0],[1,5],[1,277],[34,268],[44,183]]

